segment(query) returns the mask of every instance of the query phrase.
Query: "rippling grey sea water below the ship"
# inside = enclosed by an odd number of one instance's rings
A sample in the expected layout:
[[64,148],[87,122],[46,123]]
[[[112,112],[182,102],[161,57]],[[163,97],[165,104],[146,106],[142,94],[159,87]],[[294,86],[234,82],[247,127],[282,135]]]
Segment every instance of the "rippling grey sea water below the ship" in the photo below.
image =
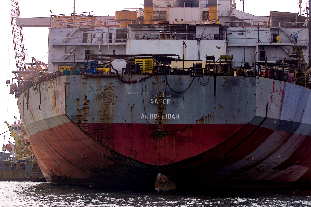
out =
[[0,182],[0,206],[311,207],[311,189],[183,194],[107,191],[98,187],[51,185],[45,182]]

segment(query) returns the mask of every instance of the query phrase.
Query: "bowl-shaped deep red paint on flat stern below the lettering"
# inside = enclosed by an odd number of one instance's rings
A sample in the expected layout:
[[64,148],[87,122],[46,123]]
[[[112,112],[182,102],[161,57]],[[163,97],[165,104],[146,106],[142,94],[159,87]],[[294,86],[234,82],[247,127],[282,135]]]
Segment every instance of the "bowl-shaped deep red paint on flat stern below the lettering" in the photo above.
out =
[[[86,128],[81,126],[82,129]],[[150,124],[155,128],[156,124]],[[87,133],[110,149],[146,164],[168,164],[205,152],[244,125],[163,124],[165,137],[153,137],[148,124],[87,124]],[[109,130],[106,130],[109,129]]]

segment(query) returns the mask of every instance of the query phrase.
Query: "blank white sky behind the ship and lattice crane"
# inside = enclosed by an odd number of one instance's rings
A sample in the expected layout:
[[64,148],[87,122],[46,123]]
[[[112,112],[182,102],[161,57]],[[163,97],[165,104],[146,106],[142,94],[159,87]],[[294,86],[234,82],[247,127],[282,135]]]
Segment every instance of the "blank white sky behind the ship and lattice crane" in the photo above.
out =
[[[170,1],[170,0],[167,0]],[[172,0],[173,1],[173,0]],[[301,4],[301,11],[306,7],[307,0],[303,0]],[[237,9],[243,11],[243,5],[240,0],[235,0]],[[244,0],[244,11],[256,16],[269,16],[270,11],[284,11],[284,12],[295,12],[299,11],[299,0],[282,0],[282,1],[271,1],[271,0]],[[48,17],[50,10],[52,15],[68,14],[73,12],[73,0],[53,0],[53,1],[42,1],[42,0],[18,0],[21,17]],[[143,0],[76,0],[76,12],[89,12],[95,16],[114,16],[114,12],[123,9],[132,8],[136,10],[139,7],[143,8]],[[0,95],[1,101],[1,120],[0,120],[0,133],[8,130],[4,121],[8,121],[13,124],[14,116],[18,116],[20,119],[19,112],[17,110],[16,99],[13,95],[9,95],[6,87],[6,80],[11,79],[13,74],[12,70],[16,70],[14,47],[12,40],[12,26],[11,26],[11,1],[2,0],[0,3],[2,7],[2,32],[0,33],[2,49],[0,50],[2,58],[2,70],[3,74],[0,76]],[[23,38],[26,54],[26,63],[31,62],[31,57],[35,57],[37,60],[43,58],[48,52],[48,29],[47,28],[23,28]],[[47,56],[42,59],[43,62],[48,62]],[[27,67],[27,66],[26,66]],[[8,100],[8,104],[7,104]],[[8,111],[7,111],[8,108]],[[49,110],[49,109],[46,109]],[[2,124],[1,124],[2,123]],[[7,143],[10,133],[5,133]],[[12,138],[11,138],[12,141]],[[0,144],[4,143],[3,134],[0,135]]]

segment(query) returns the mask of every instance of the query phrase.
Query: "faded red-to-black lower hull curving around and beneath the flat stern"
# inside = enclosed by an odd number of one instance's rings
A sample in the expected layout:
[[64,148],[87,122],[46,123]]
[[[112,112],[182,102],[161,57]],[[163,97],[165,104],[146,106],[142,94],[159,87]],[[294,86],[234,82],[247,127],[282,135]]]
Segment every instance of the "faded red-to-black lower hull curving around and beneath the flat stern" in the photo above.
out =
[[[68,137],[67,134],[72,136]],[[297,138],[293,138],[295,136]],[[107,148],[72,122],[40,131],[30,137],[36,156],[42,163],[39,163],[42,165],[42,171],[50,183],[74,185],[96,183],[106,187],[139,186],[141,189],[154,186],[158,173],[168,175],[179,189],[271,186],[271,183],[276,186],[289,186],[294,185],[293,182],[298,178],[300,180],[296,183],[307,182],[309,177],[304,177],[304,174],[310,173],[311,159],[293,172],[288,168],[295,165],[293,162],[297,161],[296,154],[303,147],[301,143],[307,142],[310,138],[246,124],[223,142],[214,147],[209,146],[209,149],[202,153],[176,163],[151,165],[135,160],[135,156],[124,156]],[[124,142],[125,139],[126,137],[123,138]],[[290,139],[300,146],[287,155],[286,149],[284,152],[281,150],[290,147]],[[187,142],[184,145],[187,145]],[[305,147],[305,150],[309,152],[311,147]],[[147,155],[148,152],[149,149],[146,148],[144,154]],[[177,151],[178,153],[180,151]],[[252,153],[256,156],[252,156]],[[275,153],[289,158],[280,160],[281,164],[278,164],[279,158]],[[306,159],[309,158],[309,155],[305,156],[308,156]],[[270,172],[273,172],[273,175]],[[293,177],[296,180],[293,180]],[[267,183],[268,181],[270,183]]]

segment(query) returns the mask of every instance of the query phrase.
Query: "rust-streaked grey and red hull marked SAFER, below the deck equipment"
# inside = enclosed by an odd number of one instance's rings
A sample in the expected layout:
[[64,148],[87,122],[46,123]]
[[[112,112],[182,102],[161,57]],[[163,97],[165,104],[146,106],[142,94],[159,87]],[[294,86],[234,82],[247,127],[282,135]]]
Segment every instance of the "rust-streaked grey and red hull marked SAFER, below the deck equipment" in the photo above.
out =
[[162,173],[177,189],[311,186],[310,89],[262,77],[142,77],[63,75],[20,94],[47,182],[154,190]]

